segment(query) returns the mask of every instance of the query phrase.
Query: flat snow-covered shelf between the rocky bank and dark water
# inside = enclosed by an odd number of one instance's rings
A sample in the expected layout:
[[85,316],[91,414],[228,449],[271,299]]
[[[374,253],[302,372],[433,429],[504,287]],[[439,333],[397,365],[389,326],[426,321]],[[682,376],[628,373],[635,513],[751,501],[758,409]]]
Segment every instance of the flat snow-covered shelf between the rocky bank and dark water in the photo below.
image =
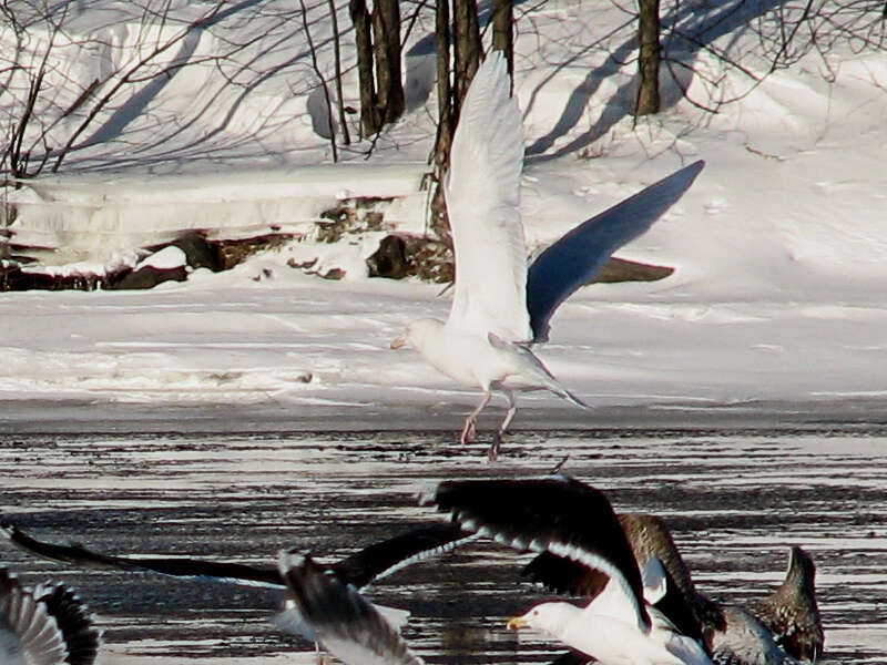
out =
[[[262,278],[265,269],[271,277]],[[271,411],[269,420],[292,413],[294,421],[314,407],[386,419],[387,407],[451,412],[476,400],[417,355],[388,348],[407,321],[446,314],[436,288],[322,282],[252,262],[147,293],[7,294],[0,399],[251,405]],[[687,301],[686,294],[679,301],[650,290],[595,285],[558,315],[554,341],[541,355],[595,406],[742,408],[885,396],[883,306]],[[524,405],[560,406],[542,396]],[[7,407],[11,417],[14,405]],[[191,413],[202,417],[200,408]],[[530,422],[519,412],[517,427]]]

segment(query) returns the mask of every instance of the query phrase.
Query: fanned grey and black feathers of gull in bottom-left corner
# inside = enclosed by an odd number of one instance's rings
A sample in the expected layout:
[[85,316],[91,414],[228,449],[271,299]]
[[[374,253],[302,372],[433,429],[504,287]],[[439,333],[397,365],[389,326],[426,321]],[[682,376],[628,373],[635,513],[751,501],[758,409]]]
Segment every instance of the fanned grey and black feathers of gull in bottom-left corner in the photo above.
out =
[[63,584],[23,586],[0,569],[0,663],[92,665],[101,632],[77,594]]

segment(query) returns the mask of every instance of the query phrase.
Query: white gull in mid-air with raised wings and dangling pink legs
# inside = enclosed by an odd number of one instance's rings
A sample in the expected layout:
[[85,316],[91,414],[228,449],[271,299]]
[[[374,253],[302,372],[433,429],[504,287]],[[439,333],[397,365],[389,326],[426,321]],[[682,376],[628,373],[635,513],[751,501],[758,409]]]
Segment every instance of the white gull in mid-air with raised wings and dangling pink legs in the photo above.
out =
[[508,412],[490,447],[496,459],[514,417],[514,391],[549,390],[588,408],[529,349],[548,339],[557,307],[588,284],[610,255],[644,233],[693,183],[695,162],[588,219],[548,247],[527,268],[520,218],[523,127],[500,52],[491,52],[471,81],[452,140],[445,194],[456,285],[447,323],[421,319],[391,342],[409,342],[451,379],[478,386],[483,398],[466,418],[460,441],[473,440],[477,418],[501,391]]

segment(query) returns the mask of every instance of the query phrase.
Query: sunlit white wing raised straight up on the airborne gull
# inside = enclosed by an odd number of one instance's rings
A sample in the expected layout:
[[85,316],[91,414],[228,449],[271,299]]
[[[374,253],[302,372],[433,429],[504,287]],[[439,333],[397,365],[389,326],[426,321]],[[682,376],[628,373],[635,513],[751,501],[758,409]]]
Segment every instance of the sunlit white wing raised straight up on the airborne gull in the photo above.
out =
[[520,219],[523,127],[498,51],[481,64],[466,95],[446,182],[456,254],[448,324],[486,337],[530,338],[527,250]]

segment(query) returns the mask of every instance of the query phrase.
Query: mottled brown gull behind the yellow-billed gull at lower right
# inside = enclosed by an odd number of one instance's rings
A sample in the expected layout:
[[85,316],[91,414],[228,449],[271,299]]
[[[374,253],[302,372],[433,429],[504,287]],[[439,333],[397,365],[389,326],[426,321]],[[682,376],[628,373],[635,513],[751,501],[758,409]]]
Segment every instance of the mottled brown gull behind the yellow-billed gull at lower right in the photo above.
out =
[[[823,633],[813,586],[813,561],[801,548],[792,548],[789,570],[779,589],[752,607],[718,603],[699,592],[690,567],[677,550],[662,518],[624,513],[619,521],[639,565],[655,556],[693,611],[705,646],[716,665],[797,665],[822,653]],[[523,571],[561,593],[582,593],[585,570],[574,562],[543,553]],[[774,627],[778,623],[778,628]],[[801,638],[804,647],[792,638]],[[806,651],[805,651],[806,649]],[[815,654],[809,657],[807,654]]]

